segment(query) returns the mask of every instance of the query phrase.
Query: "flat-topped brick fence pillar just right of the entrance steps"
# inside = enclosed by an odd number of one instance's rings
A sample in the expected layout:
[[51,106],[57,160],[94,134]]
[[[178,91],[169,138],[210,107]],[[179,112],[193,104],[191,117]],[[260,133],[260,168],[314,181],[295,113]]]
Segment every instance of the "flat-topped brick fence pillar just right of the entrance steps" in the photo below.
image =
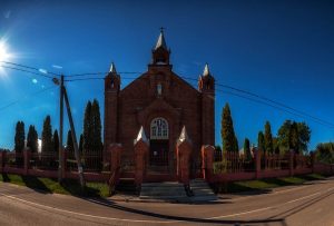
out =
[[215,147],[206,145],[202,146],[202,170],[203,178],[210,181],[214,174],[214,151]]

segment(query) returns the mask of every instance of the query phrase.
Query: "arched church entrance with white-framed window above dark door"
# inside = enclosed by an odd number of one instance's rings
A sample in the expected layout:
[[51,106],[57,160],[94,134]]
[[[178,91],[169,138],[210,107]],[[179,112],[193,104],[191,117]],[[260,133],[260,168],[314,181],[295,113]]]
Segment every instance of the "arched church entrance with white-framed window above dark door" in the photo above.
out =
[[168,166],[169,128],[165,118],[154,118],[150,122],[149,165]]

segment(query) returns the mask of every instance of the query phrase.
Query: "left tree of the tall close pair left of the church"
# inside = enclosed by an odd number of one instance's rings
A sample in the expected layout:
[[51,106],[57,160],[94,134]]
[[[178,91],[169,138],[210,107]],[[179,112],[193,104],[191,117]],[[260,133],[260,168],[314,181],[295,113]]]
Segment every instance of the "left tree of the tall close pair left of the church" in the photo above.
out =
[[88,101],[84,118],[84,154],[92,149],[91,102]]

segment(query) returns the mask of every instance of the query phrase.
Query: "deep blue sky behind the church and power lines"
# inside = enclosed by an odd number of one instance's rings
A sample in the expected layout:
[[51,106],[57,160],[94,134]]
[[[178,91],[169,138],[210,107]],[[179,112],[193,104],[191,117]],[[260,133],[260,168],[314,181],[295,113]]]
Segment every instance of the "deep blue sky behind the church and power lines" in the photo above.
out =
[[[208,62],[216,81],[277,100],[334,124],[333,1],[1,1],[0,39],[10,61],[65,75],[146,71],[159,28],[171,49],[174,71],[198,78]],[[62,68],[52,67],[61,66]],[[0,68],[1,69],[1,68]],[[48,78],[0,70],[0,147],[12,148],[18,120],[36,125],[51,116],[58,128],[58,89]],[[121,75],[138,77],[139,75]],[[130,82],[122,79],[122,87]],[[84,109],[102,80],[67,83],[77,131]],[[16,105],[1,109],[12,101]],[[256,143],[266,120],[273,134],[285,119],[306,121],[310,148],[334,140],[334,129],[229,94],[216,94],[216,143],[220,112],[232,108],[239,145]],[[68,124],[66,124],[66,130]]]

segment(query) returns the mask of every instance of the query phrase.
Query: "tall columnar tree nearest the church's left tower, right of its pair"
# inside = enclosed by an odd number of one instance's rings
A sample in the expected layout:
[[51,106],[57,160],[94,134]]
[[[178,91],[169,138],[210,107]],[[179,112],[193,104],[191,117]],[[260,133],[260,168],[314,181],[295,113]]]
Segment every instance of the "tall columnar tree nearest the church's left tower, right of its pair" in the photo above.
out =
[[100,155],[102,153],[102,137],[101,137],[101,116],[100,106],[97,99],[94,99],[91,105],[91,120],[92,120],[92,150]]

